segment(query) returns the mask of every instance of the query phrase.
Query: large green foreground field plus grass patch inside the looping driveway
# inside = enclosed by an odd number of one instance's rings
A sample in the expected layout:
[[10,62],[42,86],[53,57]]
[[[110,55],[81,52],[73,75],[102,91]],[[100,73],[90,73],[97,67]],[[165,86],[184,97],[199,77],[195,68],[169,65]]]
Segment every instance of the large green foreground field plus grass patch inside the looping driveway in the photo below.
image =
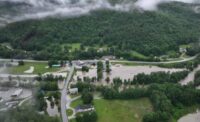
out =
[[[81,99],[72,103],[72,107],[82,104]],[[98,122],[141,122],[143,116],[153,110],[147,98],[137,100],[94,100]],[[73,120],[74,122],[74,120]]]

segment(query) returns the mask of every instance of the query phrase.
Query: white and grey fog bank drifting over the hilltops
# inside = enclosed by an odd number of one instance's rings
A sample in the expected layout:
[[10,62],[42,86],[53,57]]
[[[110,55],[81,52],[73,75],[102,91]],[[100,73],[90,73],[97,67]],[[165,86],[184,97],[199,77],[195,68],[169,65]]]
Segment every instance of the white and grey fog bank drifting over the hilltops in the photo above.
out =
[[152,11],[157,10],[157,5],[168,2],[200,3],[199,0],[0,0],[0,23],[48,16],[79,16],[98,9]]

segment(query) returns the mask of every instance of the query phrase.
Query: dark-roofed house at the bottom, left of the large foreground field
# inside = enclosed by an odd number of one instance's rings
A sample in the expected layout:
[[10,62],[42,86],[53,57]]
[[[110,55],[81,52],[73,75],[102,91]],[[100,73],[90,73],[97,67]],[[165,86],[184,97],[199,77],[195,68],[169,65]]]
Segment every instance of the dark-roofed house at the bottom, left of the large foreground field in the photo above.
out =
[[94,107],[92,105],[79,105],[75,108],[76,113],[80,112],[88,112],[88,111],[94,111]]

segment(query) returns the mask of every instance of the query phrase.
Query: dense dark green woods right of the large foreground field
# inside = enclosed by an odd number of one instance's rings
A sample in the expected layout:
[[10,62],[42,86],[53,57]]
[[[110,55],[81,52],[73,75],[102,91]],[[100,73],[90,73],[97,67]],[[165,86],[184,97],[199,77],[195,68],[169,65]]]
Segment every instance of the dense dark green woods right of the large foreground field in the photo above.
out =
[[154,106],[154,112],[144,116],[144,122],[168,122],[178,119],[184,107],[199,104],[200,91],[179,84],[154,84],[148,88],[149,98]]

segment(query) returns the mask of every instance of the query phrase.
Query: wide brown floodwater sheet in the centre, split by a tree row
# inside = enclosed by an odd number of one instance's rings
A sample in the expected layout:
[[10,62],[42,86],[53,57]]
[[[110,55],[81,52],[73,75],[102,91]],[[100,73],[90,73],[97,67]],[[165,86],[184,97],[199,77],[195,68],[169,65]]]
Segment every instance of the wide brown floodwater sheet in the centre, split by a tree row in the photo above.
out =
[[[102,84],[106,84],[105,79],[107,76],[110,77],[111,81],[113,78],[120,77],[121,79],[132,79],[135,75],[139,73],[145,73],[150,74],[152,72],[178,72],[183,71],[185,69],[175,69],[175,68],[161,68],[157,66],[123,66],[123,65],[113,65],[111,66],[111,73],[107,74],[104,72],[104,77],[102,80]],[[97,69],[96,67],[93,69],[90,69],[89,72],[82,72],[77,71],[75,75],[75,79],[77,80],[77,77],[83,78],[83,77],[97,77]]]

